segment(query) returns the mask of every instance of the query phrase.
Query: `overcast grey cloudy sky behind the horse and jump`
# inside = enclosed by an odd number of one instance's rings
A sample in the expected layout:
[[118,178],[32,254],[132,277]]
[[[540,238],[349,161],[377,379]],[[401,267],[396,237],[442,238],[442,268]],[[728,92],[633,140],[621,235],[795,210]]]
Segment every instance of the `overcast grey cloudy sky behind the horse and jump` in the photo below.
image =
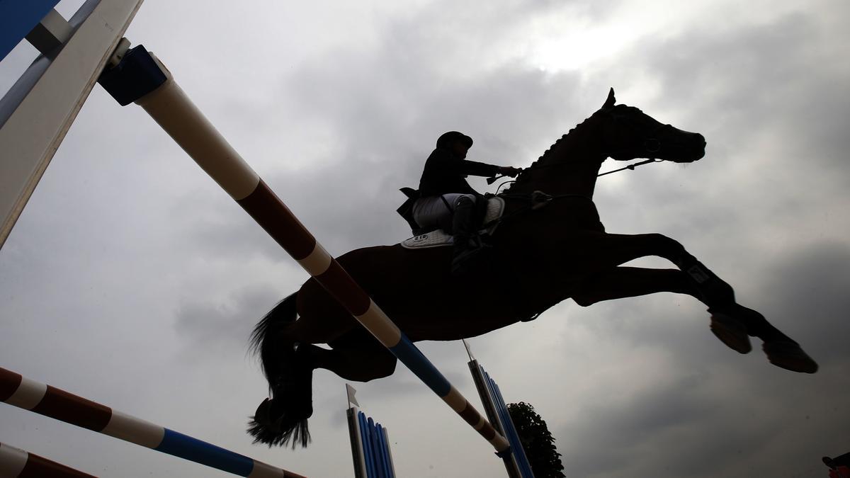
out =
[[[471,346],[547,421],[570,477],[825,476],[821,456],[850,452],[850,6],[482,4],[148,0],[127,37],[335,255],[408,236],[397,189],[450,129],[475,139],[471,159],[523,167],[613,86],[704,134],[700,162],[601,179],[604,224],[682,242],[819,373],[728,350],[673,294],[568,300]],[[3,61],[3,92],[34,57],[24,44]],[[308,449],[243,431],[266,393],[248,334],[306,278],[139,106],[96,87],[0,250],[0,367],[303,475],[352,475],[331,373],[314,374]],[[479,403],[461,343],[421,347]],[[354,387],[399,475],[504,473],[403,366]],[[95,475],[214,475],[8,406],[0,441]]]

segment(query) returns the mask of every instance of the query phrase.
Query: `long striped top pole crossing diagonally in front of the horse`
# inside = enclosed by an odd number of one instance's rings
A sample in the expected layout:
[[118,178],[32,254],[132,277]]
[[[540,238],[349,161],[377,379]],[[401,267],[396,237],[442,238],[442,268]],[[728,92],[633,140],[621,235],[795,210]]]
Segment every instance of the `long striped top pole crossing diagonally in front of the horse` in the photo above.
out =
[[410,339],[354,282],[343,267],[316,242],[269,186],[218,133],[171,73],[143,45],[128,49],[122,41],[111,61],[115,65],[99,83],[121,105],[136,103],[233,197],[299,265],[313,276],[363,327],[433,390],[467,424],[496,448],[499,456],[510,445],[467,399],[439,373]]

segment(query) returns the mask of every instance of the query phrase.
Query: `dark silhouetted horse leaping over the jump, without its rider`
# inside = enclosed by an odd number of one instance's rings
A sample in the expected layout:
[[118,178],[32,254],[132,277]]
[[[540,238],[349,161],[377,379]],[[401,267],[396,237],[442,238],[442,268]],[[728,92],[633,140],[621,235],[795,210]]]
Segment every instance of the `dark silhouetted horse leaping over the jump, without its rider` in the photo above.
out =
[[[741,354],[750,337],[775,366],[815,373],[799,344],[760,313],[736,302],[734,290],[674,239],[605,231],[593,203],[607,158],[694,162],[706,139],[616,105],[614,88],[598,111],[558,139],[501,194],[505,212],[489,238],[488,260],[467,274],[450,272],[451,248],[409,250],[399,244],[360,248],[337,258],[348,274],[411,341],[475,337],[527,322],[565,300],[583,307],[650,293],[688,294],[708,307],[710,330]],[[676,268],[623,266],[658,256]],[[327,344],[330,348],[316,344]],[[309,443],[312,372],[346,380],[392,375],[396,357],[360,326],[314,279],[276,304],[254,327],[271,397],[252,417],[254,443]]]

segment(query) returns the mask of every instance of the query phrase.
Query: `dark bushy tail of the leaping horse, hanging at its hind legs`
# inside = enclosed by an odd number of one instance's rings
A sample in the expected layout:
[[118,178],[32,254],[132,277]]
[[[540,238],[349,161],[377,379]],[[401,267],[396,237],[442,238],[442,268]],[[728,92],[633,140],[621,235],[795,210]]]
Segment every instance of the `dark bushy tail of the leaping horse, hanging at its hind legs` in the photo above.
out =
[[307,447],[310,441],[307,418],[313,414],[313,367],[307,347],[298,347],[287,330],[296,320],[296,296],[281,300],[251,333],[251,350],[263,364],[271,398],[257,407],[247,431],[254,443],[269,447],[290,441],[292,448],[298,442]]

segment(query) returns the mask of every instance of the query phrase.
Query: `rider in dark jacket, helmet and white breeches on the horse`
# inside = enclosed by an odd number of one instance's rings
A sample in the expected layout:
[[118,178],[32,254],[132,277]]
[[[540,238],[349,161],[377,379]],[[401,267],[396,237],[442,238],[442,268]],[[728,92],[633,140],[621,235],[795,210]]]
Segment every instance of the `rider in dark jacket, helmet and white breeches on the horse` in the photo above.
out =
[[[419,180],[419,191],[402,190],[411,198],[412,204],[410,201],[405,202],[405,205],[399,208],[399,213],[409,219],[409,222],[412,215],[411,226],[418,226],[418,230],[443,229],[454,236],[451,259],[453,273],[458,272],[462,263],[482,248],[476,234],[478,225],[473,224],[473,211],[476,202],[484,201],[484,196],[475,191],[465,178],[470,174],[516,176],[521,171],[509,166],[467,161],[467,151],[472,145],[472,138],[457,131],[440,135],[437,147],[425,162],[422,179]],[[415,227],[414,229],[416,230]]]

